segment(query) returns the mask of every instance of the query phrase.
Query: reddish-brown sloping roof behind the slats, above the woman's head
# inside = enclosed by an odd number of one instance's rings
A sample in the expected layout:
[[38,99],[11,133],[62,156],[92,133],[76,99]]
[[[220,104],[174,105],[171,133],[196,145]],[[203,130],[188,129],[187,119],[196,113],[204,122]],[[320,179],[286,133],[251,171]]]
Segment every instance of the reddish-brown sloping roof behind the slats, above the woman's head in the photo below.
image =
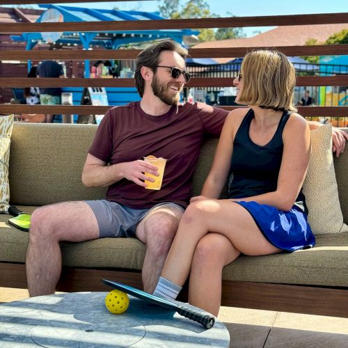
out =
[[[322,43],[334,33],[348,29],[348,24],[313,24],[278,26],[251,38],[237,38],[229,40],[201,42],[192,48],[226,48],[226,47],[280,47],[303,46],[310,38]],[[231,58],[216,58],[219,63],[226,63]]]

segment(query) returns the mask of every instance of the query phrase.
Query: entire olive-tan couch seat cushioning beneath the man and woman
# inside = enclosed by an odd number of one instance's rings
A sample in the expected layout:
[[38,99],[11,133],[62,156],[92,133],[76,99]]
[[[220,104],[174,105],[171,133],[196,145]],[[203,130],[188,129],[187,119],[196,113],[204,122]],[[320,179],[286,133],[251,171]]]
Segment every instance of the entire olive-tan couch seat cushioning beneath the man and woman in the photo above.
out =
[[[18,206],[26,212],[35,207]],[[25,262],[28,232],[0,214],[0,262]],[[141,270],[145,246],[133,238],[62,243],[63,265]],[[223,269],[223,280],[348,286],[348,233],[318,235],[314,248],[267,256],[240,256]]]

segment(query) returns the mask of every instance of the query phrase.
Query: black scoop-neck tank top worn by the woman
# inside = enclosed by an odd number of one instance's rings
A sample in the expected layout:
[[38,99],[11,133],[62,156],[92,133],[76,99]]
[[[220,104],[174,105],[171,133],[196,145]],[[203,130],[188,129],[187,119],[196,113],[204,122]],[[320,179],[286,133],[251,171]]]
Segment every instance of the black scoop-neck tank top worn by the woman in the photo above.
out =
[[[290,112],[284,111],[273,138],[266,145],[251,141],[249,128],[254,118],[250,109],[239,126],[233,142],[230,175],[233,175],[228,198],[246,198],[276,191],[283,157],[283,129]],[[300,192],[295,205],[307,213],[305,198]]]

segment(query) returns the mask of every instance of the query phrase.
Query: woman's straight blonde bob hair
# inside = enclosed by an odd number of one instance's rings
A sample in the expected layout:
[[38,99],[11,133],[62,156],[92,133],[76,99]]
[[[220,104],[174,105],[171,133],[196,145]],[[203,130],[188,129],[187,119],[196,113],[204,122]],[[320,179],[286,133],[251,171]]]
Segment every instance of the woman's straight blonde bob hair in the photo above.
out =
[[292,102],[295,70],[283,53],[265,49],[249,52],[242,62],[241,74],[243,88],[238,103],[297,111]]

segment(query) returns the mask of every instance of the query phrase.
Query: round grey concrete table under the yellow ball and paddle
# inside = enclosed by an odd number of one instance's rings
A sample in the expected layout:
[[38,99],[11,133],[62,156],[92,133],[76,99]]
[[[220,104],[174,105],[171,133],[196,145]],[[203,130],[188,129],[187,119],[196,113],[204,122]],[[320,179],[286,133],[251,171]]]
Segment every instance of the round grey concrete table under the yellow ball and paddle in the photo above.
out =
[[0,305],[0,347],[228,347],[218,319],[212,329],[129,296],[125,313],[106,309],[108,292],[38,296]]

